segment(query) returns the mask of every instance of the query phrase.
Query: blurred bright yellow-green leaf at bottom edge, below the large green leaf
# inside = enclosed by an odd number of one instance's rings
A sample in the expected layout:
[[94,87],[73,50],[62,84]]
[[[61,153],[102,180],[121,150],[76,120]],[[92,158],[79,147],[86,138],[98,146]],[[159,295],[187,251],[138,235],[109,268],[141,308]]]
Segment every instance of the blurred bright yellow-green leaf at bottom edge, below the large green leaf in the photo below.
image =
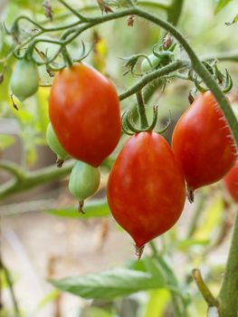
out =
[[164,316],[170,298],[170,293],[166,289],[149,292],[148,303],[145,306],[143,317]]

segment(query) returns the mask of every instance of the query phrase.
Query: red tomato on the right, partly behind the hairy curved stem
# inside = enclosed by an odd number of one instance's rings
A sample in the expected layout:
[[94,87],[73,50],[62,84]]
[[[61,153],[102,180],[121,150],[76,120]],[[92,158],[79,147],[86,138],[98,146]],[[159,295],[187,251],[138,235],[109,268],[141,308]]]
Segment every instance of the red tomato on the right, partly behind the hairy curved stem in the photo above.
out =
[[177,121],[172,149],[191,190],[213,184],[233,167],[232,133],[211,91],[199,95]]

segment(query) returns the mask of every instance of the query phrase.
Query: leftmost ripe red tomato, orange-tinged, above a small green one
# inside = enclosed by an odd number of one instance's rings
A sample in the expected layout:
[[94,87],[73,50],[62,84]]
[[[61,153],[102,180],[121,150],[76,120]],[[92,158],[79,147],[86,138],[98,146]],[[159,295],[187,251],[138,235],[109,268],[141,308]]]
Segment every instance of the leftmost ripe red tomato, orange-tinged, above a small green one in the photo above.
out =
[[119,142],[119,97],[109,80],[89,65],[57,73],[49,107],[53,130],[72,158],[98,167]]

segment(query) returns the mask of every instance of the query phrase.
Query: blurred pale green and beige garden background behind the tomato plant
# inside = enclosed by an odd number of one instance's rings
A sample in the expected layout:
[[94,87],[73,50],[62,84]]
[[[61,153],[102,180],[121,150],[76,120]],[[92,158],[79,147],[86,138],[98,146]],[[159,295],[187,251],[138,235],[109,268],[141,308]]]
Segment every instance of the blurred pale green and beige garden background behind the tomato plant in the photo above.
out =
[[[95,2],[71,0],[73,7],[81,8],[88,15],[100,14]],[[155,1],[155,4],[157,2]],[[164,0],[163,4],[169,1]],[[47,25],[68,24],[76,18],[56,0],[51,2],[53,21]],[[150,2],[148,2],[150,4]],[[238,13],[238,4],[231,1],[222,11],[215,14],[213,0],[185,1],[178,28],[186,35],[198,56],[234,51],[238,47],[238,24],[232,22]],[[143,7],[159,17],[166,18],[157,5]],[[83,9],[86,8],[86,9]],[[84,10],[84,11],[83,11]],[[42,1],[1,0],[0,20],[10,29],[19,14],[33,17],[43,23]],[[25,38],[33,33],[33,25],[22,22]],[[2,27],[4,30],[4,27]],[[36,95],[21,103],[15,101],[15,110],[10,98],[9,79],[14,69],[15,58],[5,59],[11,50],[13,40],[2,30],[0,34],[0,72],[5,80],[0,85],[0,155],[1,161],[14,163],[29,171],[44,170],[55,163],[55,155],[46,145],[45,131],[48,119],[48,96],[50,88],[41,87]],[[81,41],[90,49],[97,40],[87,62],[107,74],[120,92],[139,80],[136,75],[124,75],[122,58],[133,53],[152,53],[152,47],[159,43],[163,31],[142,19],[135,19],[129,27],[126,19],[96,26],[85,32],[71,44],[71,54],[81,53]],[[50,36],[50,35],[49,35]],[[45,50],[45,44],[39,45]],[[48,53],[55,52],[48,45]],[[178,52],[177,54],[183,54]],[[5,67],[6,63],[6,67]],[[233,110],[238,109],[238,63],[221,62],[233,78],[233,90],[229,94]],[[137,68],[139,72],[139,66]],[[51,82],[44,67],[40,67],[41,82]],[[172,123],[166,138],[170,141],[173,127],[181,113],[188,107],[188,93],[191,82],[180,79],[167,83],[165,90],[157,89],[148,100],[148,112],[152,106],[159,106],[158,126],[163,127],[171,112]],[[135,104],[135,97],[121,102],[121,110]],[[118,148],[112,153],[113,160],[127,137],[123,136]],[[65,162],[65,167],[71,162]],[[55,167],[56,168],[56,167]],[[69,293],[55,290],[49,278],[59,279],[72,274],[90,274],[112,267],[130,267],[137,264],[134,245],[129,235],[119,229],[109,215],[105,201],[105,187],[109,175],[107,165],[101,168],[99,192],[86,202],[88,214],[84,217],[76,212],[76,201],[68,190],[69,172],[54,181],[19,193],[2,195],[5,184],[12,178],[5,168],[0,169],[0,217],[1,254],[14,284],[14,293],[23,316],[37,317],[164,317],[176,316],[171,308],[171,293],[167,288],[135,293],[113,301],[85,300]],[[216,294],[222,280],[233,225],[234,203],[226,193],[223,182],[199,189],[195,203],[186,203],[183,215],[175,227],[156,239],[161,254],[165,255],[177,278],[183,284],[186,294],[188,316],[205,316],[206,305],[197,292],[191,278],[191,270],[199,267],[206,282]],[[151,253],[145,249],[145,256]],[[143,262],[143,261],[142,261]],[[14,316],[12,298],[4,274],[1,316]],[[182,286],[181,286],[182,287]],[[193,301],[192,301],[193,299]]]

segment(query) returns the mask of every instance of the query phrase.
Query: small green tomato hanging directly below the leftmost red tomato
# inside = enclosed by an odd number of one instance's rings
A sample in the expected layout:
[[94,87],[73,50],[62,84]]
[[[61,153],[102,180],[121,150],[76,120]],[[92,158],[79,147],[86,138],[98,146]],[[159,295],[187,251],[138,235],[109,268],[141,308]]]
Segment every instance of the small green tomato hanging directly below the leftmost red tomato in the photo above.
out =
[[84,199],[93,195],[100,186],[100,169],[77,160],[71,170],[69,190],[79,201],[79,211],[82,211]]

